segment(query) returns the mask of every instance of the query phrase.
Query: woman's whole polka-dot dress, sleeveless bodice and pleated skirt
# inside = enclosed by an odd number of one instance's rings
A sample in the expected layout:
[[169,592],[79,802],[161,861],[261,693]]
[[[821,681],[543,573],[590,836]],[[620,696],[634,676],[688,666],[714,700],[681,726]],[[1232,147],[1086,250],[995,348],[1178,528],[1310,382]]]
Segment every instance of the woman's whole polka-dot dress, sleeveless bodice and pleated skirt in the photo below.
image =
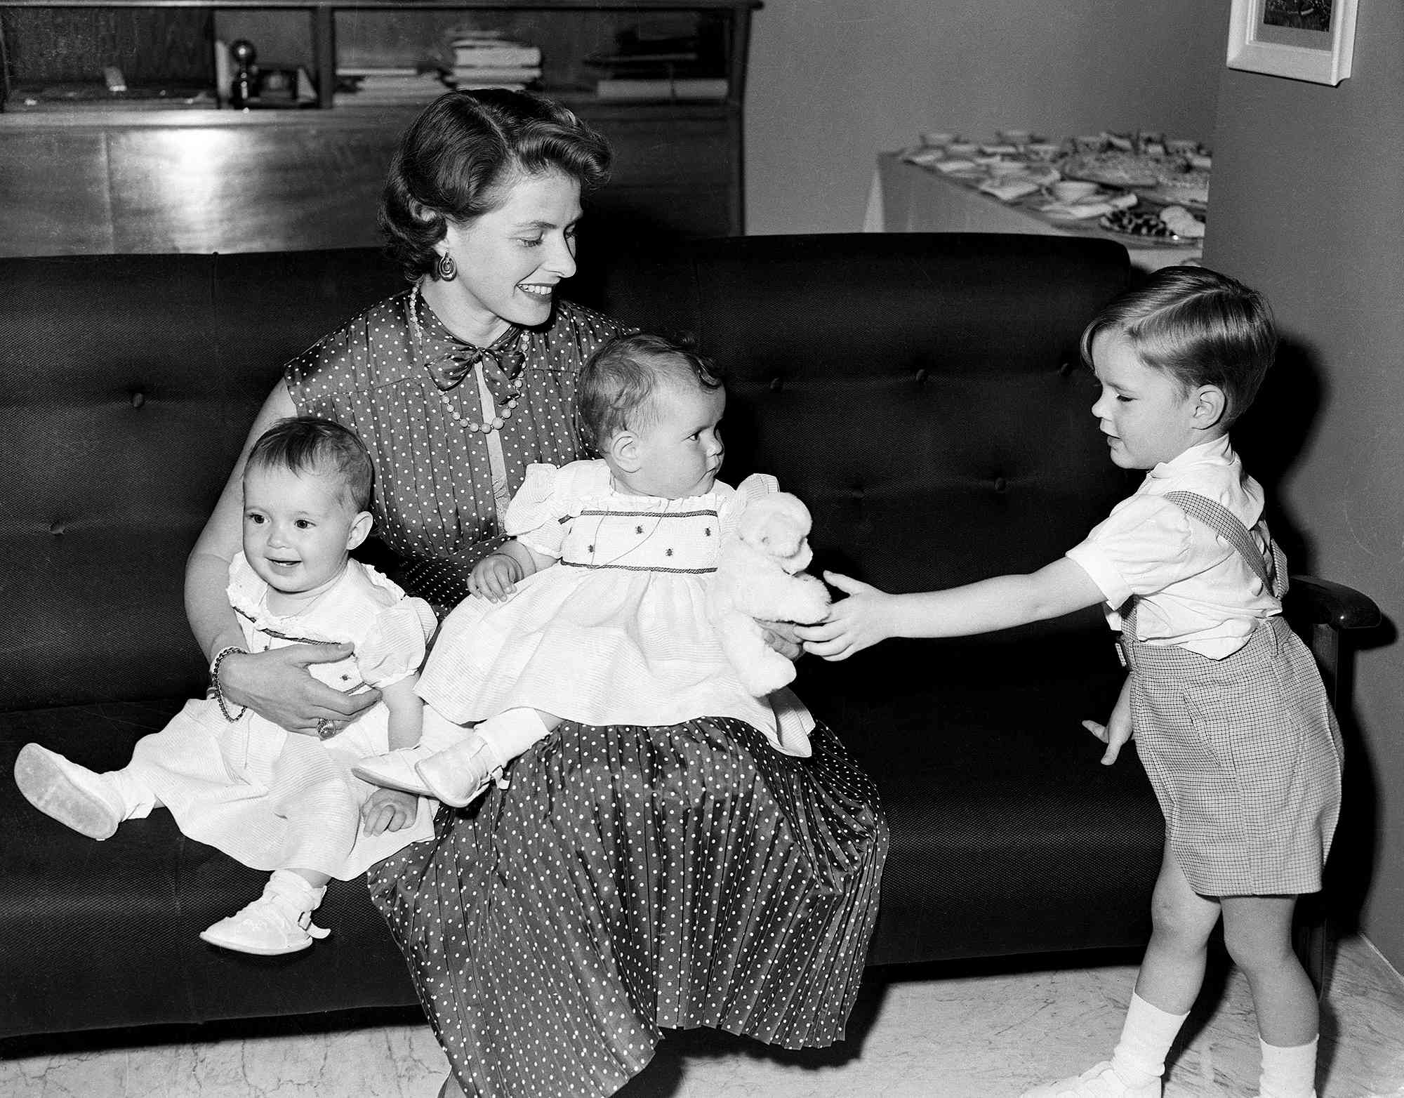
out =
[[[404,573],[466,594],[500,543],[486,438],[427,364],[468,354],[410,295],[372,307],[289,364],[299,411],[361,432],[376,518]],[[580,456],[574,379],[621,326],[557,302],[522,333],[524,397],[504,424],[507,489],[529,462]],[[463,393],[462,390],[469,390]],[[459,586],[449,591],[448,576]],[[403,581],[403,580],[402,580]],[[410,586],[407,583],[407,586]],[[453,598],[452,601],[456,601]],[[459,1085],[493,1098],[614,1094],[665,1028],[717,1026],[786,1047],[840,1040],[878,911],[887,828],[872,779],[823,723],[813,755],[771,750],[736,717],[576,722],[532,747],[435,841],[371,871]]]

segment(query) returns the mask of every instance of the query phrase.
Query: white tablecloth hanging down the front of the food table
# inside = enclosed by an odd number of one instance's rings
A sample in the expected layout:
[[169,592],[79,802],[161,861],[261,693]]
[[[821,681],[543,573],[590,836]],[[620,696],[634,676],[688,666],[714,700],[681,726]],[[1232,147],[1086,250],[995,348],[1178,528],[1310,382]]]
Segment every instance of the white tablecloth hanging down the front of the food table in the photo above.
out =
[[882,153],[868,191],[866,233],[1042,233],[1101,236],[1126,246],[1132,265],[1144,271],[1199,263],[1203,246],[1148,244],[1099,229],[1095,222],[1053,222],[1036,211],[1001,202],[974,187]]

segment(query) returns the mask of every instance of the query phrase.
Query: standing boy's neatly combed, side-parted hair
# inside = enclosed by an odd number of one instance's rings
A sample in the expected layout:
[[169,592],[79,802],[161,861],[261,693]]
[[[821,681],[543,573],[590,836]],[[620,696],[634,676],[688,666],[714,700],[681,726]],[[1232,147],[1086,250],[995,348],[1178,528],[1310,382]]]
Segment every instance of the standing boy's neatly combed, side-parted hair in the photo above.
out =
[[1170,373],[1186,393],[1200,385],[1221,389],[1224,427],[1252,404],[1278,348],[1268,299],[1207,267],[1163,267],[1113,298],[1082,333],[1088,366],[1102,331],[1123,336],[1147,366]]

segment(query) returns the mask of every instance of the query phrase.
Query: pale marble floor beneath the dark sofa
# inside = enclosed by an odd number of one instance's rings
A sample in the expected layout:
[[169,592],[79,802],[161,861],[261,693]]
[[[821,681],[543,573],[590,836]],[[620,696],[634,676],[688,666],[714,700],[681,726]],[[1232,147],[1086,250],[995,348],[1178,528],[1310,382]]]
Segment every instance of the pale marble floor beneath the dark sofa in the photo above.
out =
[[[841,1046],[674,1033],[619,1098],[1012,1098],[1105,1057],[1130,960],[873,972]],[[1404,1098],[1404,980],[1362,938],[1337,944],[1321,1047],[1318,1098]],[[1171,1056],[1167,1098],[1257,1094],[1252,1004],[1224,962]],[[0,1042],[0,1095],[15,1098],[434,1098],[444,1073],[428,1026],[403,1014]]]

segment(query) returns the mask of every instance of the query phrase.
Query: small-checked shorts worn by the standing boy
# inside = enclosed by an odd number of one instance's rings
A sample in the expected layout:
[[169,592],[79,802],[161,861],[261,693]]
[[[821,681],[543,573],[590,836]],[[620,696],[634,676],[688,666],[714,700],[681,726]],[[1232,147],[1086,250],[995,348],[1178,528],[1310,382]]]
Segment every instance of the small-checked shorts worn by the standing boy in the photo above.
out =
[[1321,889],[1341,810],[1341,730],[1280,616],[1233,656],[1125,646],[1136,748],[1165,835],[1203,896]]

